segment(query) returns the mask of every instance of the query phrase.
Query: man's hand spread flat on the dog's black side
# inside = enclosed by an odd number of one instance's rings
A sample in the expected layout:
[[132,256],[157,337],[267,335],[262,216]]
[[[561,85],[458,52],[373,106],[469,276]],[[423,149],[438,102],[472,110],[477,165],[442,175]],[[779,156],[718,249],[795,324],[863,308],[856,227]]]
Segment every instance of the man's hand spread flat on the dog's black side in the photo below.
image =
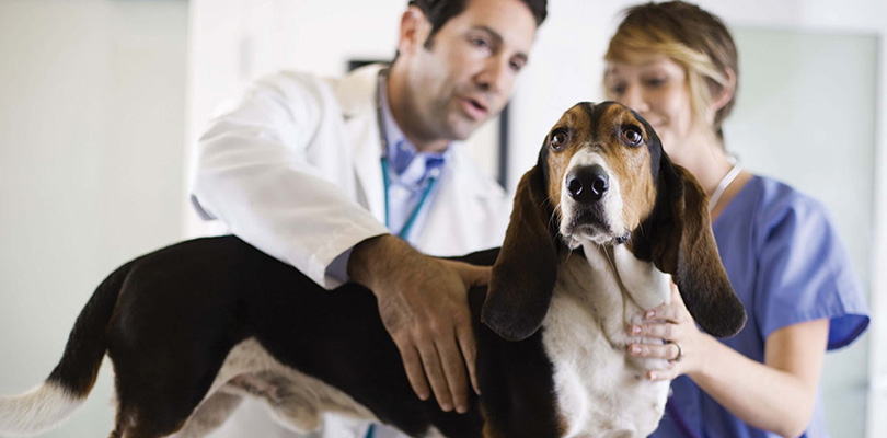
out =
[[426,256],[391,234],[360,242],[348,261],[352,279],[376,293],[413,391],[428,400],[430,382],[447,412],[468,412],[465,366],[480,394],[468,290],[489,283],[489,273],[488,267]]

